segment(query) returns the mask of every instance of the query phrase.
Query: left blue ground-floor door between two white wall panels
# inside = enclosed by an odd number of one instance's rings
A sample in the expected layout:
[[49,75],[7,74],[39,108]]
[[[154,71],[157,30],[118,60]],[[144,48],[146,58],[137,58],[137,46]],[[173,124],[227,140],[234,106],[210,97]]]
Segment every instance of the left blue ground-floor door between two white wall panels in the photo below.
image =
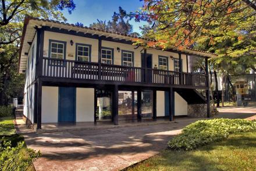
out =
[[76,121],[76,88],[59,88],[59,123]]

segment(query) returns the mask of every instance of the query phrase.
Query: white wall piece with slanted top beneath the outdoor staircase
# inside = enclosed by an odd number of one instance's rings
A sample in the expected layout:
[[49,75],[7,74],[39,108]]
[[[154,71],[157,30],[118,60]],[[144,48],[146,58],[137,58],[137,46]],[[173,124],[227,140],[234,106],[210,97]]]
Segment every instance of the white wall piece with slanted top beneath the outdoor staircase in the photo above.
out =
[[187,115],[187,101],[175,92],[175,116]]

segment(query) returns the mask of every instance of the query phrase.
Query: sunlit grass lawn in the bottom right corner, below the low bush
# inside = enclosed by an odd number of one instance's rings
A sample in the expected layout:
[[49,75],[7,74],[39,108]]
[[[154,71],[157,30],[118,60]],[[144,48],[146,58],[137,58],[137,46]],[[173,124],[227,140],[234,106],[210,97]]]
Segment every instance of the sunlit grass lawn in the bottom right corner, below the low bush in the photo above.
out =
[[192,151],[165,150],[126,170],[256,170],[256,132],[231,134]]

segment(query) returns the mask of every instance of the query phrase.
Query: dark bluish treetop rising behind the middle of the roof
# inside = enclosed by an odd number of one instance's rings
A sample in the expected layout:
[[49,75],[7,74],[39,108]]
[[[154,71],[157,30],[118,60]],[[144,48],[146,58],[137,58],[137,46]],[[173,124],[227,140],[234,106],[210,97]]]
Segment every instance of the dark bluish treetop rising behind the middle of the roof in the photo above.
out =
[[133,26],[129,23],[126,10],[123,10],[119,6],[119,13],[114,12],[112,20],[106,22],[97,19],[97,23],[90,24],[90,27],[97,28],[99,30],[120,32],[121,34],[138,36],[139,34],[133,32]]

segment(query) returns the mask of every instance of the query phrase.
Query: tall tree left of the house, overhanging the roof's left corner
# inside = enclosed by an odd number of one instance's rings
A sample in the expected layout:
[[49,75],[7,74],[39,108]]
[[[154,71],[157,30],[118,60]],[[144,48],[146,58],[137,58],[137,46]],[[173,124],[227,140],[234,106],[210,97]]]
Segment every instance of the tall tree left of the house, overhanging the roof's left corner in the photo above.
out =
[[71,13],[73,0],[1,0],[0,3],[0,105],[10,97],[22,97],[24,74],[18,74],[18,55],[26,14],[66,21],[61,10]]

